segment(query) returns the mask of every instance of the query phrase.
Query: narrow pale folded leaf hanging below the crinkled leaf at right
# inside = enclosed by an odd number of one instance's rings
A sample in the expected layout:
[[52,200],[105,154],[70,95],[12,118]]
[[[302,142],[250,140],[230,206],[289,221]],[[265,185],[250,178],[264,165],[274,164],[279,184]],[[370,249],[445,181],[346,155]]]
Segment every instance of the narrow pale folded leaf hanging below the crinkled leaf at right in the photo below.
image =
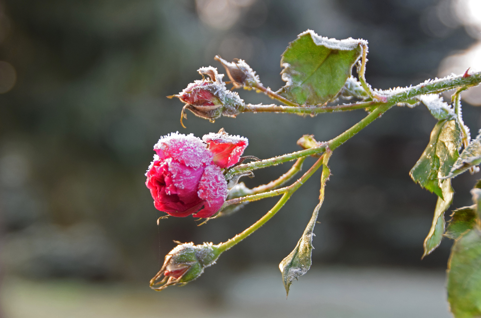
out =
[[444,233],[444,212],[453,202],[454,191],[451,187],[451,179],[443,180],[441,184],[441,190],[443,191],[443,198],[438,197],[436,203],[436,209],[434,210],[434,217],[432,219],[431,229],[428,236],[424,240],[424,254],[422,257],[430,254],[436,249],[443,239]]

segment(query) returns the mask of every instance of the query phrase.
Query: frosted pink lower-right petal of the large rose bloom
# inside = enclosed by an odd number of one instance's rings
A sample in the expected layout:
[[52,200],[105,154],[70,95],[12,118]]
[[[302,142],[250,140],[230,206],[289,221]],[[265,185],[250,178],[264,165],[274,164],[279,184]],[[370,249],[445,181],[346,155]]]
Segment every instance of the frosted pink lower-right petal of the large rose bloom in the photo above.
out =
[[210,217],[221,208],[227,198],[228,190],[227,181],[218,166],[205,167],[197,194],[203,200],[204,208],[194,216]]

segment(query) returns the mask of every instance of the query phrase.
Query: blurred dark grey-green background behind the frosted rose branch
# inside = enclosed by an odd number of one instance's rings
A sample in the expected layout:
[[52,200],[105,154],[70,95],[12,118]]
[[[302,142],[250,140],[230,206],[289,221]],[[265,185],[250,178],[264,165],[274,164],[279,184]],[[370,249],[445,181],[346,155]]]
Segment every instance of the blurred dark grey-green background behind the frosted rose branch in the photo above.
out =
[[[176,245],[172,240],[224,242],[264,215],[276,199],[249,204],[233,216],[200,227],[192,217],[171,217],[157,226],[157,217],[164,214],[153,207],[144,184],[152,146],[172,131],[202,137],[224,127],[249,139],[245,154],[269,158],[299,150],[296,140],[303,134],[329,140],[366,113],[357,110],[314,118],[241,114],[236,119],[219,118],[214,124],[189,113],[184,129],[179,123],[183,104],[165,96],[199,79],[196,70],[201,66],[223,71],[213,60],[215,54],[227,60],[245,59],[264,85],[276,90],[283,85],[280,54],[308,28],[329,38],[367,39],[366,77],[375,88],[459,74],[469,66],[481,67],[480,16],[477,0],[0,1],[0,222],[6,275],[0,303],[6,315],[29,317],[27,304],[38,315],[48,312],[51,307],[38,309],[32,304],[59,301],[58,294],[64,290],[98,293],[92,297],[102,299],[101,295],[114,297],[112,293],[117,295],[119,290],[127,293],[133,288],[128,286],[138,286],[145,293],[139,296],[140,303],[133,301],[134,307],[144,308],[160,299],[168,303],[179,295],[194,299],[200,293],[209,312],[222,304],[229,307],[229,299],[242,300],[235,294],[242,288],[245,294],[260,293],[259,288],[270,286],[262,280],[267,278],[277,282],[275,292],[266,289],[259,297],[266,296],[265,304],[276,307],[276,302],[269,303],[272,295],[284,301],[277,265],[295,246],[316,206],[318,176],[264,227],[223,254],[199,280],[181,290],[154,293],[148,290],[148,280]],[[271,102],[252,91],[239,93],[246,102]],[[464,121],[472,135],[481,127],[480,109],[473,107],[481,104],[480,96],[475,89],[464,96]],[[336,280],[326,282],[322,276],[331,273],[341,278],[352,275],[349,281],[358,284],[359,295],[364,294],[363,286],[373,284],[370,277],[377,278],[379,286],[385,281],[380,278],[403,283],[411,277],[414,285],[406,287],[404,295],[413,295],[413,289],[419,291],[416,283],[425,286],[425,278],[426,285],[432,280],[432,286],[439,287],[433,293],[439,293],[438,301],[446,306],[442,272],[451,242],[444,240],[420,260],[436,197],[408,175],[435,122],[422,105],[397,107],[334,152],[321,224],[313,241],[313,269],[318,271],[311,279],[306,275],[295,282],[296,291],[302,293],[302,280],[306,284],[317,279],[319,286],[337,288]],[[304,171],[313,162],[306,160]],[[266,183],[289,166],[257,171],[255,178],[244,181],[250,187]],[[453,180],[452,209],[471,204],[469,189],[476,178],[464,174]],[[255,278],[252,291],[234,283],[245,277]],[[29,293],[32,286],[36,293]],[[312,294],[319,292],[317,285],[309,286]],[[346,291],[353,289],[348,283],[345,286]],[[389,286],[398,286],[392,287],[394,294],[403,291],[400,285]],[[45,299],[41,301],[40,296]],[[290,301],[295,302],[292,297]],[[78,297],[72,294],[71,298]],[[322,294],[319,298],[325,299]],[[334,298],[334,303],[349,302]],[[113,299],[120,298],[106,298],[102,304],[112,305]],[[329,307],[325,316],[313,311],[305,317],[361,317],[358,310],[363,307],[354,307],[347,313]],[[276,312],[266,308],[259,309],[264,316]],[[382,310],[383,317],[398,317],[389,308]],[[110,317],[107,311],[99,317]],[[137,314],[123,311],[125,317],[144,317],[133,312]],[[145,317],[164,317],[162,309],[154,312],[158,316]],[[169,315],[174,314],[165,317]],[[45,317],[57,316],[51,312]]]

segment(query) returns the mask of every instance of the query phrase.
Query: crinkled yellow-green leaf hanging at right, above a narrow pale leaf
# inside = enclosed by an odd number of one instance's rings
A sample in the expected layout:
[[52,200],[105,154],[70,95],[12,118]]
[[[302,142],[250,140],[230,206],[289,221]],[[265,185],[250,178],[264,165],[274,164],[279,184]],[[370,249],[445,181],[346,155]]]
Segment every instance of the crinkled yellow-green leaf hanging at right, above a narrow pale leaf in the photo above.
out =
[[439,178],[446,177],[459,156],[461,129],[457,120],[442,119],[432,129],[429,144],[409,172],[414,182],[443,199]]

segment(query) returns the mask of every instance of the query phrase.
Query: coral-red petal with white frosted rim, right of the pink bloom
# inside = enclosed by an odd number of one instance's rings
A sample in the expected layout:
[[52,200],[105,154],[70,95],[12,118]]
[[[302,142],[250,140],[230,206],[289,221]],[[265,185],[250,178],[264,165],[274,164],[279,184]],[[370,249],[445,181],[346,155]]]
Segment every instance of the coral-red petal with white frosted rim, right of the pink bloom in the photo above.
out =
[[249,141],[245,137],[232,136],[221,129],[217,134],[204,135],[209,151],[214,154],[213,161],[221,168],[231,167],[239,162]]

